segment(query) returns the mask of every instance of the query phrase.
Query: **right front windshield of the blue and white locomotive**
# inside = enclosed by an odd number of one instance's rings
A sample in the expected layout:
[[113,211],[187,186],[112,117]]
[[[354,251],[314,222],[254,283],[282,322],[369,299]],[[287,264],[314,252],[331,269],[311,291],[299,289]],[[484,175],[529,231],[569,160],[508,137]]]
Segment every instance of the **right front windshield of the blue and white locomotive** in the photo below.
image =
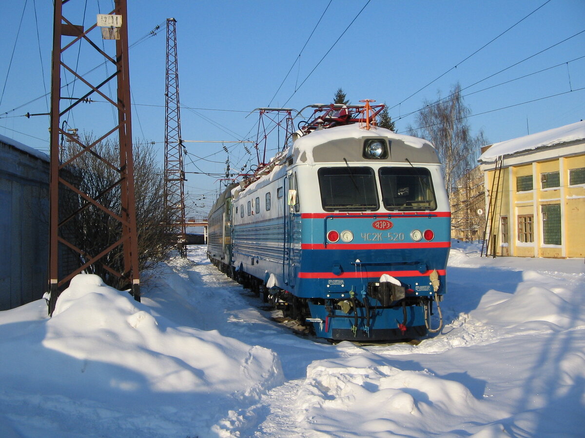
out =
[[426,168],[380,169],[380,185],[387,210],[436,210],[431,172]]

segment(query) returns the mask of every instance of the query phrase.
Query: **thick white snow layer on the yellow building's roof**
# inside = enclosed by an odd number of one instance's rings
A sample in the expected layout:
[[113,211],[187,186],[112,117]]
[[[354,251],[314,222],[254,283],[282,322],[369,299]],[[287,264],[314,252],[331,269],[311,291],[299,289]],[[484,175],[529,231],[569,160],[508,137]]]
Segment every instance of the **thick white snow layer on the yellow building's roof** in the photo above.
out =
[[491,162],[503,155],[512,155],[517,152],[551,147],[577,140],[585,140],[585,121],[583,120],[559,128],[549,129],[548,131],[495,143],[481,154],[479,161]]

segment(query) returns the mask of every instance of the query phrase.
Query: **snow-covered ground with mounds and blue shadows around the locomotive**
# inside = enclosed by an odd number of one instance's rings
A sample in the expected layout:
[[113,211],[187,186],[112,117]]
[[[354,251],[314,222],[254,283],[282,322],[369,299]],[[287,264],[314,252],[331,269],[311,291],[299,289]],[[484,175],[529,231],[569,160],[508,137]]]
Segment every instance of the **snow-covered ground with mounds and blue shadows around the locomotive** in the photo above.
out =
[[[583,437],[583,260],[455,244],[419,345],[295,335],[192,247],[142,303],[75,277],[0,312],[0,437]],[[274,315],[272,315],[274,316]]]

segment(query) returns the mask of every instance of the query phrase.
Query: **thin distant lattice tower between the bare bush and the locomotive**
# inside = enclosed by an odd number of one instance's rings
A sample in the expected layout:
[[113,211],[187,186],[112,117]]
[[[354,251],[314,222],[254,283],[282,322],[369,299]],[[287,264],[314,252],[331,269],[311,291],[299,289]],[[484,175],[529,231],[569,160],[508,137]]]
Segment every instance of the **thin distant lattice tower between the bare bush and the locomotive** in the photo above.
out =
[[167,74],[164,95],[164,200],[171,228],[177,234],[181,256],[187,256],[185,228],[184,145],[181,138],[179,72],[177,64],[177,20],[167,18]]

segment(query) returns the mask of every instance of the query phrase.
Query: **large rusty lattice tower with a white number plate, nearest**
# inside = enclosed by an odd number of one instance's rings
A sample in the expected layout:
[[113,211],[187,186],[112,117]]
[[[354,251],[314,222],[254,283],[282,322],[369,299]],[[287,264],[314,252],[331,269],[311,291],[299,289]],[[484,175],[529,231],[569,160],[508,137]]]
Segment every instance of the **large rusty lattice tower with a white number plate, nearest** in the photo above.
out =
[[[126,0],[115,0],[113,11],[97,14],[96,22],[87,28],[74,24],[82,21],[84,16],[83,5],[79,3],[54,0],[50,113],[50,314],[61,290],[81,272],[96,273],[104,280],[109,279],[110,283],[128,287],[135,300],[140,301]],[[67,11],[64,11],[66,4]],[[115,53],[109,55],[106,48],[99,48],[101,41],[98,44],[92,39],[112,40],[104,41],[104,47],[113,51],[115,46]],[[105,73],[103,77],[99,73],[82,76],[75,67],[78,54],[87,58],[96,57],[94,61],[98,65],[105,63],[113,66],[113,73]],[[62,74],[75,77],[78,98],[61,96]],[[115,98],[102,91],[108,84],[116,89]],[[99,110],[104,116],[85,114],[86,120],[94,120],[96,125],[97,121],[109,120],[112,108],[117,113],[117,120],[113,120],[111,126],[102,127],[102,132],[97,132],[101,126],[96,126],[93,129],[95,140],[90,142],[64,130],[60,121],[74,108],[76,115],[83,116],[83,110],[87,107],[81,109],[77,105],[91,95],[99,95],[109,105],[93,107],[92,111]],[[73,148],[68,154],[62,155],[60,136],[66,138],[64,144]],[[102,154],[100,145],[103,142],[113,145],[113,158],[112,155]],[[92,172],[92,169],[82,168],[82,158],[98,160],[108,169],[109,179],[92,174],[101,178],[103,189],[99,193],[85,193],[82,190],[84,172]],[[110,200],[108,204],[104,203],[106,198]],[[89,212],[99,219],[88,223]],[[83,219],[82,215],[85,215]],[[104,242],[92,246],[92,242],[87,241],[87,234],[94,227],[105,227],[108,232]]]

